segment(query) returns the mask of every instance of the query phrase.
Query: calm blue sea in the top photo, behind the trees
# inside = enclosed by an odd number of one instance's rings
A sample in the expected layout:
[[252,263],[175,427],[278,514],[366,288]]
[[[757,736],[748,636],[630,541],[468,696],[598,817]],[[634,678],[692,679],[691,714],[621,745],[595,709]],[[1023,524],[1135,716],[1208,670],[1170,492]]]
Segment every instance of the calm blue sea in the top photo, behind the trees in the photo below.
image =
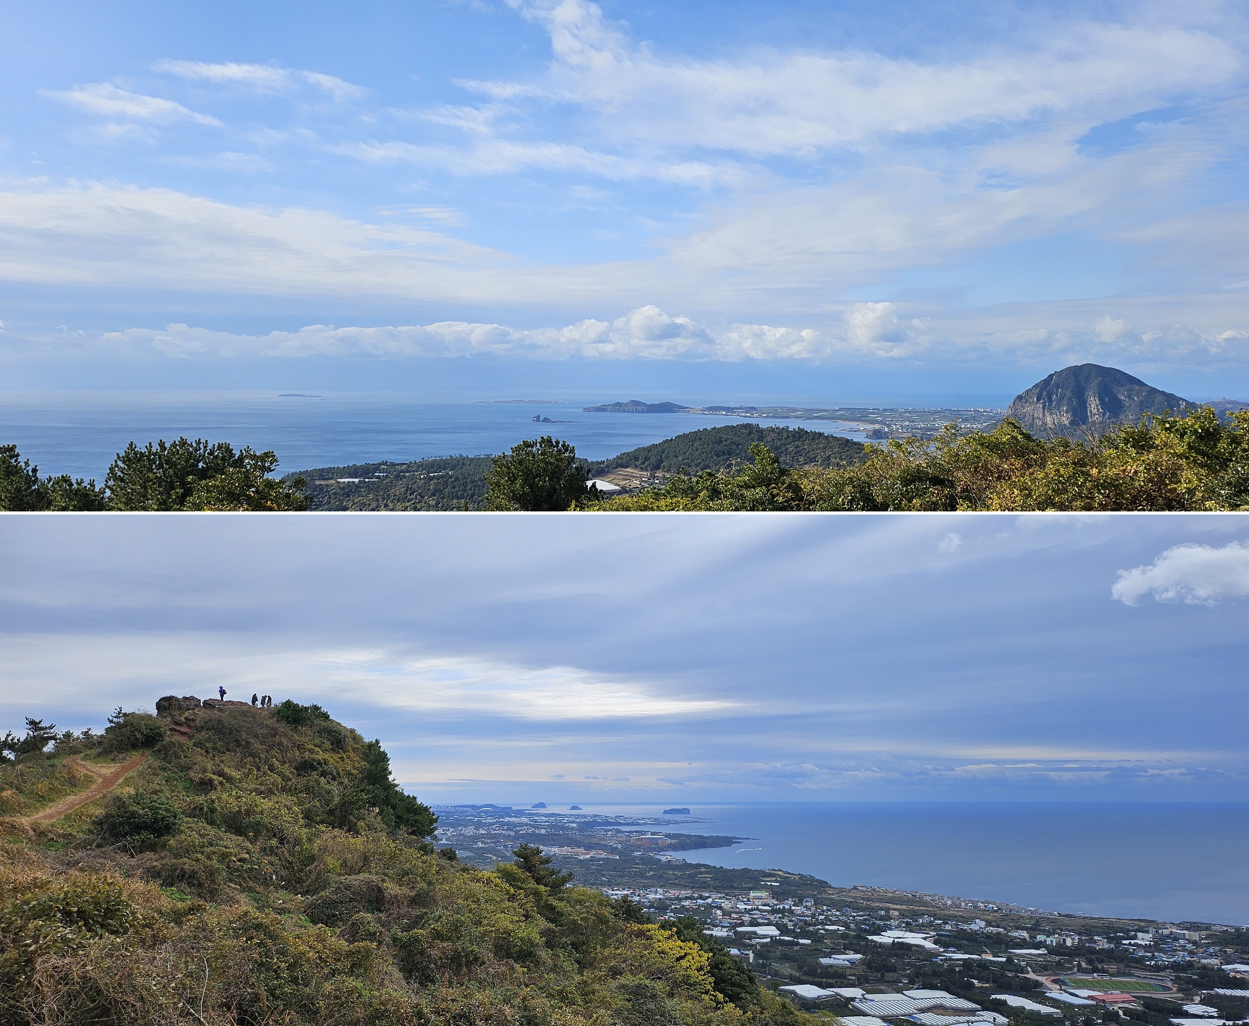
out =
[[[739,423],[688,413],[582,413],[586,398],[565,403],[431,403],[391,393],[276,392],[21,392],[0,393],[0,443],[15,443],[42,474],[102,481],[130,441],[207,438],[236,448],[274,449],[281,471],[378,459],[503,452],[525,438],[553,434],[588,459],[671,438],[686,431]],[[535,424],[533,417],[570,423]],[[833,423],[767,421],[862,439]]]

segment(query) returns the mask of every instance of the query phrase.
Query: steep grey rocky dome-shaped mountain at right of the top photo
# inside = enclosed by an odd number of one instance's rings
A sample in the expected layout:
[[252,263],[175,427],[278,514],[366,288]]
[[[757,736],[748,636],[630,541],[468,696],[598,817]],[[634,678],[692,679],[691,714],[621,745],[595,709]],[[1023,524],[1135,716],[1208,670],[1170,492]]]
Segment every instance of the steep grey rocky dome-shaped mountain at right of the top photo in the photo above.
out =
[[1055,371],[1015,396],[1007,417],[1033,434],[1075,436],[1135,423],[1145,413],[1179,413],[1194,408],[1188,399],[1145,384],[1114,367],[1082,363]]

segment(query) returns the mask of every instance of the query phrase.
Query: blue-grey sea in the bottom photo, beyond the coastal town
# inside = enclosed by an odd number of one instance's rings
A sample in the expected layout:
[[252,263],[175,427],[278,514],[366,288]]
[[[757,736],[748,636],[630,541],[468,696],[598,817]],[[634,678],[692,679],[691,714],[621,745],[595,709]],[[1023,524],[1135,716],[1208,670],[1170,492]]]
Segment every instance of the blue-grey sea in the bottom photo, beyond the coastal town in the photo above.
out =
[[[666,808],[581,805],[588,813],[633,815]],[[838,886],[874,884],[1057,912],[1249,924],[1249,803],[688,808],[707,821],[672,829],[757,839],[678,853],[688,861],[786,869]]]

